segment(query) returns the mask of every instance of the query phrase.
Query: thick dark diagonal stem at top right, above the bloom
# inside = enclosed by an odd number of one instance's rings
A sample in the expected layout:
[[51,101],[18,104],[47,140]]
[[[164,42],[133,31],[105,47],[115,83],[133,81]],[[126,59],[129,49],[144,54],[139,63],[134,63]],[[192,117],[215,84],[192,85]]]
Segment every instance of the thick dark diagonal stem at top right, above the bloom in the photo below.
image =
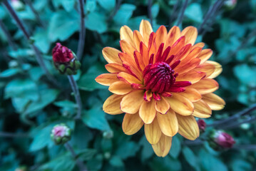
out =
[[213,6],[210,6],[210,9],[208,10],[207,14],[205,14],[205,18],[203,19],[203,23],[198,28],[198,34],[202,34],[204,32],[205,24],[210,20],[210,18],[215,16],[215,13],[217,10],[220,9],[220,7],[224,4],[224,0],[216,1]]

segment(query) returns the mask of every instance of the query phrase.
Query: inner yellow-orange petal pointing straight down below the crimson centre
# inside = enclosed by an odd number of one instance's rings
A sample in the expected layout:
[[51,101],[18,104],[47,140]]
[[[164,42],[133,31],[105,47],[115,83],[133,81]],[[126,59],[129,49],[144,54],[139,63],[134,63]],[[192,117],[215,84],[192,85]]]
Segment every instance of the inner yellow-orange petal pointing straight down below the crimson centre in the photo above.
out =
[[156,114],[155,100],[151,99],[149,102],[143,101],[140,106],[139,114],[144,123],[152,123]]

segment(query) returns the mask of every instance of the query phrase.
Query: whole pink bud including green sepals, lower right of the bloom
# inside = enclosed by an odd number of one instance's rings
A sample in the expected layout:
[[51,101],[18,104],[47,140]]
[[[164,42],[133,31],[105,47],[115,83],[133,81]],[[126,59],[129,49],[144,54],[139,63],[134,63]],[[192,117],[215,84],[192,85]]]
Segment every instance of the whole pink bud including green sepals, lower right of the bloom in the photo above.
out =
[[235,140],[232,136],[222,130],[214,131],[210,135],[210,140],[210,146],[215,150],[228,149],[235,144]]

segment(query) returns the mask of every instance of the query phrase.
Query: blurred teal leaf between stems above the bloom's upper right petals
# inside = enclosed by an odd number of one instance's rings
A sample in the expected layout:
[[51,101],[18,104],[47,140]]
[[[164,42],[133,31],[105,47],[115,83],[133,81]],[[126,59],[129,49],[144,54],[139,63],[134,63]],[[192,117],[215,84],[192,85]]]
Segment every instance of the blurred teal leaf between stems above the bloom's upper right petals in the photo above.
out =
[[203,21],[203,13],[200,4],[198,3],[192,3],[188,6],[188,8],[185,10],[185,16],[188,17],[188,19],[191,19],[193,21],[196,21],[198,23]]

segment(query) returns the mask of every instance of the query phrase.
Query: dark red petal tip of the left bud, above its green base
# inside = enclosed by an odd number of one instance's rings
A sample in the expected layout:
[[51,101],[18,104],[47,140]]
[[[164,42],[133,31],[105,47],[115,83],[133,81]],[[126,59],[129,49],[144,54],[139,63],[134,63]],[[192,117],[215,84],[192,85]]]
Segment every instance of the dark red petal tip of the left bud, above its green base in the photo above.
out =
[[62,46],[61,43],[56,43],[52,55],[55,63],[67,63],[74,58],[73,52],[66,46]]

